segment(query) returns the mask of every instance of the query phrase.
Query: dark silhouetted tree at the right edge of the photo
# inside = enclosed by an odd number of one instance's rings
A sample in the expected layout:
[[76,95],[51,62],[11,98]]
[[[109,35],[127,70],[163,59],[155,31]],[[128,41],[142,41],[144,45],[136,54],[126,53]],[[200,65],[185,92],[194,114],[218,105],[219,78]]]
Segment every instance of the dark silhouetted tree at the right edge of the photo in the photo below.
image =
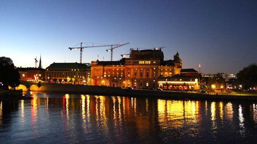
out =
[[236,74],[239,85],[243,89],[249,89],[257,86],[257,65],[251,64]]

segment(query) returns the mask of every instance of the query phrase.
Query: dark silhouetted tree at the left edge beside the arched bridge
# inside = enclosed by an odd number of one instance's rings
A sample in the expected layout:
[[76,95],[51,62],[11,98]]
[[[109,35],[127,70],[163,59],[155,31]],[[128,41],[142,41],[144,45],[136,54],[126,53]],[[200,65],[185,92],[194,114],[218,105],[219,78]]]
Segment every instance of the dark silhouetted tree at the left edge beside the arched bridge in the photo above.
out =
[[0,82],[2,82],[4,90],[8,90],[8,86],[15,88],[20,85],[20,74],[15,69],[12,59],[9,57],[0,57]]

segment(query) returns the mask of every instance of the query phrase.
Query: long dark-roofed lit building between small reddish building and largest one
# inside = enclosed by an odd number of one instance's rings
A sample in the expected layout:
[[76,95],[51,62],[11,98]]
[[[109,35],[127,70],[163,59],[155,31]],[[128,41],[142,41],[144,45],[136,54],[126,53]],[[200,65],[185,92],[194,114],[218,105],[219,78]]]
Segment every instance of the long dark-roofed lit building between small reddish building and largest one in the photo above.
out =
[[52,63],[46,68],[46,78],[54,83],[90,85],[90,68],[80,63]]

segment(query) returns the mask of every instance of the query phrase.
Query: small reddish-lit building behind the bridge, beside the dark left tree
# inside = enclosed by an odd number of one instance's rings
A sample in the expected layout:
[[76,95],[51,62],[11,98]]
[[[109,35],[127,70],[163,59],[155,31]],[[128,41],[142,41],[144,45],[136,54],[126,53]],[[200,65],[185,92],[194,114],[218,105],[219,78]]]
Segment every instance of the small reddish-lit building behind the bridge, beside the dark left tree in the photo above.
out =
[[41,68],[17,68],[20,73],[20,80],[41,81],[45,77],[45,69]]

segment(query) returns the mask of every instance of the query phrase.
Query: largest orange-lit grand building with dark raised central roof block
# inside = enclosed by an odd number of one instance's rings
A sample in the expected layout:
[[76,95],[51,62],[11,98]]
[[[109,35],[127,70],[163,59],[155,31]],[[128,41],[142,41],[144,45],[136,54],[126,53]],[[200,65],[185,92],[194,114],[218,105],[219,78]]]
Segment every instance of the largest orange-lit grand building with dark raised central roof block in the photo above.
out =
[[118,61],[92,61],[92,85],[136,89],[157,88],[159,77],[180,74],[182,68],[178,53],[174,55],[174,60],[163,60],[163,57],[161,49],[132,49],[130,58]]

